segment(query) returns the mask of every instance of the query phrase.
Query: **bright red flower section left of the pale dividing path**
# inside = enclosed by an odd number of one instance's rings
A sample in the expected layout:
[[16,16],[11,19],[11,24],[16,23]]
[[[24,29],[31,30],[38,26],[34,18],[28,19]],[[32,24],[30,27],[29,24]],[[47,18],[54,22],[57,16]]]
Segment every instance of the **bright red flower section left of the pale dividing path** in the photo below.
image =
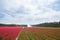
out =
[[0,40],[14,40],[22,28],[0,27]]

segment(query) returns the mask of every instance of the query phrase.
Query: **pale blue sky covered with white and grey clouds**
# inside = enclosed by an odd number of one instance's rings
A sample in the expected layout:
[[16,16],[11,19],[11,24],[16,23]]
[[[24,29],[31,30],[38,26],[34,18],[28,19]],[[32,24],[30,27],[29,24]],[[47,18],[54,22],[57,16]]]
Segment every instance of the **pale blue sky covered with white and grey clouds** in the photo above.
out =
[[0,23],[39,24],[60,20],[60,0],[0,0]]

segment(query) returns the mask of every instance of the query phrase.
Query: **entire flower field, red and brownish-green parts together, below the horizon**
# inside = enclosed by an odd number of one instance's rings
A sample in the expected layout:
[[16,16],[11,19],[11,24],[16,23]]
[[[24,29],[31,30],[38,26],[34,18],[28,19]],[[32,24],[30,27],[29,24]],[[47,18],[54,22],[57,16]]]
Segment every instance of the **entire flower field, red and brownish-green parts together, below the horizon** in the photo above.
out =
[[0,27],[0,40],[60,40],[60,28]]

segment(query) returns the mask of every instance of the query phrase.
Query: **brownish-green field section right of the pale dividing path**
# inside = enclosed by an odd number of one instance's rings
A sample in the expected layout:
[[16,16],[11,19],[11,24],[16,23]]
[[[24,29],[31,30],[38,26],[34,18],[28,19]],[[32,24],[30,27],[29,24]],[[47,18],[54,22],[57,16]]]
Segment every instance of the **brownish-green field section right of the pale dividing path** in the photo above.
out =
[[24,28],[18,40],[60,40],[60,29]]

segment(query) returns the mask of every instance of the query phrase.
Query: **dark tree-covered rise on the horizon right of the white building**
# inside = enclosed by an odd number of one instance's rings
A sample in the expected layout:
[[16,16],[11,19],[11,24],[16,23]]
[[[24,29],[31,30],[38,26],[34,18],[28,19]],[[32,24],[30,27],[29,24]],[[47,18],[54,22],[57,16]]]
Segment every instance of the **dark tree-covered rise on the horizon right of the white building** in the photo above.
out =
[[49,22],[49,23],[42,23],[42,24],[37,24],[33,25],[36,27],[60,27],[60,21],[59,22]]

